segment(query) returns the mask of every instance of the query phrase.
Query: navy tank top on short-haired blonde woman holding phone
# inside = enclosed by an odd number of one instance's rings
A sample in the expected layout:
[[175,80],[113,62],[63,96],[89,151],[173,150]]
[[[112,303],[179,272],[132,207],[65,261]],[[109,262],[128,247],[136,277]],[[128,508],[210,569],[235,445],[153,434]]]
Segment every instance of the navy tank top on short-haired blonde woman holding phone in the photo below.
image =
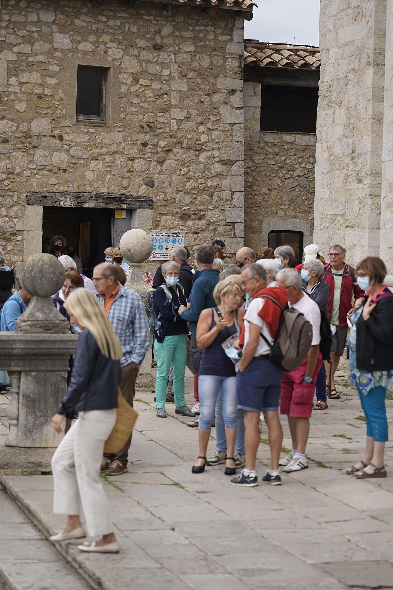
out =
[[[214,319],[214,310],[212,308],[212,323],[210,324],[210,330],[216,325]],[[236,334],[235,322],[232,326],[228,326],[230,334],[227,334],[227,330],[220,330],[217,334],[216,339],[213,340],[212,344],[202,350],[202,356],[199,365],[199,375],[217,375],[217,377],[235,377],[235,364],[230,360],[222,348],[222,343]]]

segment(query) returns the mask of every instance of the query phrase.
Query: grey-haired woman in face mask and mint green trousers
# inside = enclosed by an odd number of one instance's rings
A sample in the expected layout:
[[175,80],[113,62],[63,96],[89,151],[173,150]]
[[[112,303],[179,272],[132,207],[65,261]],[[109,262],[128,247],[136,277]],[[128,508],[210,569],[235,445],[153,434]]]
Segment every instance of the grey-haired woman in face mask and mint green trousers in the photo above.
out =
[[157,359],[157,417],[166,418],[165,400],[170,366],[173,366],[175,414],[194,417],[184,401],[184,373],[187,359],[187,322],[181,319],[179,307],[186,306],[184,289],[179,283],[179,264],[169,260],[161,267],[164,283],[153,294],[156,322],[154,350]]

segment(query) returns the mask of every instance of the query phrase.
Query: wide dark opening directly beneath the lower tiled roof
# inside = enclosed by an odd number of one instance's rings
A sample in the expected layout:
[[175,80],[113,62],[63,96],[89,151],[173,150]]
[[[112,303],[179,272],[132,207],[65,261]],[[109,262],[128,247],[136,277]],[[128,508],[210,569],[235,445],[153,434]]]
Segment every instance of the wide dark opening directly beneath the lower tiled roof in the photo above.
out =
[[261,88],[260,129],[316,133],[318,89],[290,86]]

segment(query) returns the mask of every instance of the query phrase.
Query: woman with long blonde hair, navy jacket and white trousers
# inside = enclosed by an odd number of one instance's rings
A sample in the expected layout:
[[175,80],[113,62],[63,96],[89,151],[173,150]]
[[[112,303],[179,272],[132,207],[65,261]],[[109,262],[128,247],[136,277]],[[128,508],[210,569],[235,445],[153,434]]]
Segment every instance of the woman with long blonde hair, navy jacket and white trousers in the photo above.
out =
[[61,432],[65,414],[78,419],[57,447],[51,466],[56,514],[67,514],[65,529],[51,537],[59,542],[86,536],[80,522],[82,506],[87,533],[101,538],[78,545],[81,551],[117,553],[110,510],[100,478],[104,444],[116,421],[120,383],[120,342],[97,299],[87,289],[70,293],[64,307],[71,324],[81,329],[67,393],[62,398],[52,427]]

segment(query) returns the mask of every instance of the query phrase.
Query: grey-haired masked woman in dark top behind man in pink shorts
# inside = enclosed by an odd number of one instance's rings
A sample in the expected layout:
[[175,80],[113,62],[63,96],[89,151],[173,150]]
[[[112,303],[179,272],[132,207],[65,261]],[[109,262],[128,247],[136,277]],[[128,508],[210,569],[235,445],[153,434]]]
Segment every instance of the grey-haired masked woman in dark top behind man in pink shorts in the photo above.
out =
[[[307,293],[319,305],[321,313],[325,313],[329,317],[328,300],[329,300],[329,285],[322,279],[323,264],[321,260],[305,260],[300,271],[303,284],[302,290]],[[315,411],[328,408],[326,397],[326,375],[325,367],[321,366],[315,383],[316,404],[313,407]]]

